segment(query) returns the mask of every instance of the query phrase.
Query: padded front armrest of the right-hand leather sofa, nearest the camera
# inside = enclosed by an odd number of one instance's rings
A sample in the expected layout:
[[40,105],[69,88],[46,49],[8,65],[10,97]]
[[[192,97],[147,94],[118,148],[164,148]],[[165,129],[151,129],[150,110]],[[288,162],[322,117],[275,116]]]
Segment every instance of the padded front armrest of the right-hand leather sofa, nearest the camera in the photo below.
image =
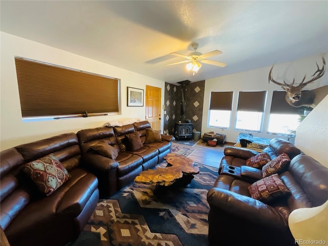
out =
[[251,197],[212,188],[207,194],[207,200],[211,210],[219,210],[267,228],[288,227],[287,221],[273,207]]

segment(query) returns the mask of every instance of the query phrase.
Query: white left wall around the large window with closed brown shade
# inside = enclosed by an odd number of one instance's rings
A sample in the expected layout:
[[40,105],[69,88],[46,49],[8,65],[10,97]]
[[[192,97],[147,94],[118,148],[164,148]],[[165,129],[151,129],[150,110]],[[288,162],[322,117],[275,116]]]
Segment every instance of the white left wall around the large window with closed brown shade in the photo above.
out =
[[[22,56],[59,66],[120,78],[121,115],[22,122],[14,61],[15,56]],[[105,122],[113,119],[145,119],[145,107],[127,107],[126,102],[127,87],[145,90],[146,85],[162,89],[161,105],[163,105],[164,81],[1,32],[0,149],[5,150],[19,144],[61,133],[77,132],[80,129],[100,127]],[[161,124],[161,128],[162,127],[163,124]]]

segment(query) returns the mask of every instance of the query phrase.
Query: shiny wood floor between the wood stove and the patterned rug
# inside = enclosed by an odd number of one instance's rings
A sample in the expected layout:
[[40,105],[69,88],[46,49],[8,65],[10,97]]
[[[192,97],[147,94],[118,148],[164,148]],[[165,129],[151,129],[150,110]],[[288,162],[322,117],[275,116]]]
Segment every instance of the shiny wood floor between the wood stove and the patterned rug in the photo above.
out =
[[199,162],[211,167],[218,168],[221,158],[224,155],[223,150],[227,146],[232,146],[232,145],[226,144],[223,147],[221,146],[211,147],[211,146],[207,146],[206,143],[202,143],[200,140],[197,142],[197,144],[194,147],[188,147],[191,150],[194,150],[194,152],[188,155],[188,157],[194,160],[195,162]]

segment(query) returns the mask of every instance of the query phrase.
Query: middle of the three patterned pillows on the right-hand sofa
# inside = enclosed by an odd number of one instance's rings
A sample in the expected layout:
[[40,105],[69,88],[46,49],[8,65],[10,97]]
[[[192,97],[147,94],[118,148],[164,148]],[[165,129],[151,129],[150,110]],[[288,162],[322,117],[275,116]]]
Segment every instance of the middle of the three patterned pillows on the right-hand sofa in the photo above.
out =
[[269,161],[262,168],[263,178],[275,173],[282,173],[288,168],[291,159],[286,153],[282,153],[273,160]]

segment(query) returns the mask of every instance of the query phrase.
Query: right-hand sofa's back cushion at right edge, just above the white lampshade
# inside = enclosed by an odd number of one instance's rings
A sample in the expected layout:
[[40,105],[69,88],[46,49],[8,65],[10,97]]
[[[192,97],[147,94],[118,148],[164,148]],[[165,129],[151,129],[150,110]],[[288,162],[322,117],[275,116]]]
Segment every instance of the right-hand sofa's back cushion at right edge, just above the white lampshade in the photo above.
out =
[[308,196],[313,207],[328,199],[328,168],[312,157],[300,154],[291,160],[288,171]]

